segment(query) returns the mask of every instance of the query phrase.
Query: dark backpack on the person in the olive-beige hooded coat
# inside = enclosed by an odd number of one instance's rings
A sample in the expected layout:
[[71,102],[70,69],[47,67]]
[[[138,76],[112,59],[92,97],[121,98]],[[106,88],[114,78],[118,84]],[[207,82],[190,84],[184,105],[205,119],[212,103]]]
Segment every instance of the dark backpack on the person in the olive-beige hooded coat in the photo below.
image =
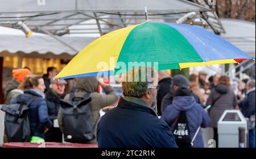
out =
[[83,98],[75,97],[75,93],[71,93],[69,101],[60,99],[63,133],[66,142],[85,143],[95,138],[90,101],[92,98],[89,93],[85,94]]

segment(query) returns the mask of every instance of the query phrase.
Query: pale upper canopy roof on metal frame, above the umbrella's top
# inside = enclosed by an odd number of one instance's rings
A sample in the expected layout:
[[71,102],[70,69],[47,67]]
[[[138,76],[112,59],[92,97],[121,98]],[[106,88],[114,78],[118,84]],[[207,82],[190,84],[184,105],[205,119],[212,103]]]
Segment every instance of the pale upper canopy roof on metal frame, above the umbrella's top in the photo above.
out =
[[[0,26],[15,28],[22,21],[35,32],[53,35],[104,35],[144,22],[144,7],[151,21],[174,22],[188,12],[209,12],[185,0],[0,0],[0,4]],[[91,19],[92,23],[84,23]]]

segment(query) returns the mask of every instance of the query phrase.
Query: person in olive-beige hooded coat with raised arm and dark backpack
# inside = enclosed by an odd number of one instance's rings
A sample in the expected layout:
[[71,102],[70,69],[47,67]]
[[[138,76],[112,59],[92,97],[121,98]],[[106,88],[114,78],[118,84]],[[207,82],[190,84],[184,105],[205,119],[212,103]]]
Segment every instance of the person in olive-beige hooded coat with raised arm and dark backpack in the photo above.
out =
[[[99,85],[105,94],[98,93]],[[59,127],[64,133],[64,140],[70,143],[97,144],[96,133],[100,121],[100,110],[106,106],[112,106],[117,100],[118,95],[113,87],[103,81],[98,81],[97,77],[78,78],[75,92],[67,94],[64,98],[65,102],[61,100],[63,102],[61,102],[57,116]],[[75,103],[80,103],[76,105],[77,111],[73,111]],[[87,109],[87,106],[89,106],[89,109]],[[82,121],[84,121],[84,124],[77,124]]]

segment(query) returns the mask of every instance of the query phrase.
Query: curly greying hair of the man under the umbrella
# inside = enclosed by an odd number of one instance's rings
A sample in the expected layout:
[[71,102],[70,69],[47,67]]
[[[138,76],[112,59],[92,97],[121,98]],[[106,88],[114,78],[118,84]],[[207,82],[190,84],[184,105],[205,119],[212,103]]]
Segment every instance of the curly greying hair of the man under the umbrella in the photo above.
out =
[[129,70],[122,83],[122,91],[125,97],[142,98],[149,88],[154,87],[158,81],[158,73],[152,68],[135,68]]

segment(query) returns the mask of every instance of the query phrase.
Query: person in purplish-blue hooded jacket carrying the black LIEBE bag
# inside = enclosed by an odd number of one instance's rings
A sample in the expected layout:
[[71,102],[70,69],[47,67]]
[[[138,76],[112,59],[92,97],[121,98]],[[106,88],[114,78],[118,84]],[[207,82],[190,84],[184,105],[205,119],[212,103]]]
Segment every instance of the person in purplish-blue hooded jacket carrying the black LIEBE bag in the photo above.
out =
[[179,87],[175,91],[174,100],[164,110],[161,119],[170,126],[178,147],[204,147],[201,127],[208,127],[210,119],[188,87]]

